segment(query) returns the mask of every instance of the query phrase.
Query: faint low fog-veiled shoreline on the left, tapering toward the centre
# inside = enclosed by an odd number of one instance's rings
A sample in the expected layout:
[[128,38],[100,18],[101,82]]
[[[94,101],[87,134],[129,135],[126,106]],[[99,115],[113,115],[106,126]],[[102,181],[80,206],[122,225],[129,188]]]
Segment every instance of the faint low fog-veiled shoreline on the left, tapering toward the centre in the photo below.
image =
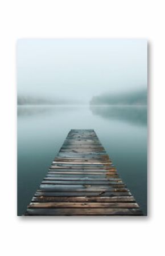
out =
[[18,105],[79,105],[85,104],[83,101],[66,100],[66,99],[53,99],[47,97],[35,97],[18,95]]

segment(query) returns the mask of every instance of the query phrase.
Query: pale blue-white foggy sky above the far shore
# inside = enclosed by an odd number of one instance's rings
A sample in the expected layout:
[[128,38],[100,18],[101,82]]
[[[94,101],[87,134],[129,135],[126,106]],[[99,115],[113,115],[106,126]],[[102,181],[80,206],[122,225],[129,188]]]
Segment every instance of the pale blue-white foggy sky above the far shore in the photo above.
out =
[[89,101],[147,87],[147,41],[20,39],[18,95]]

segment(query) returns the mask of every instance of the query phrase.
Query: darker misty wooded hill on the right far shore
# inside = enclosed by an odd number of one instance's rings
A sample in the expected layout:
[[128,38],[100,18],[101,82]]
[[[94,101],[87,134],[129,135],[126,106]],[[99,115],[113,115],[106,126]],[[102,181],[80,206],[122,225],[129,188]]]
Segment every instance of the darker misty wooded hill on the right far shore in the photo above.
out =
[[93,96],[90,105],[147,105],[147,90]]

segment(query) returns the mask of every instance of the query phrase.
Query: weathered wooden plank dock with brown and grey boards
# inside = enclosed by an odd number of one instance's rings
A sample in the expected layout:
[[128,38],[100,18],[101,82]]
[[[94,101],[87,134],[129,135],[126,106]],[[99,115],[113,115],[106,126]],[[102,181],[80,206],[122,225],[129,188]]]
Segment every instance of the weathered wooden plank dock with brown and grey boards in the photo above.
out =
[[142,216],[93,129],[72,129],[25,216]]

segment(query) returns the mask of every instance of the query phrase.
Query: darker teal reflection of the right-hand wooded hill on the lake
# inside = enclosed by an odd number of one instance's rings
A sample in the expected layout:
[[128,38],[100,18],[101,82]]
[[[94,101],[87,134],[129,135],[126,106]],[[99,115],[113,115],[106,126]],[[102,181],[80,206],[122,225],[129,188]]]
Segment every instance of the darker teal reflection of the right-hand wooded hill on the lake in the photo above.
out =
[[121,120],[135,125],[147,125],[146,106],[98,106],[90,105],[93,115],[109,120]]

